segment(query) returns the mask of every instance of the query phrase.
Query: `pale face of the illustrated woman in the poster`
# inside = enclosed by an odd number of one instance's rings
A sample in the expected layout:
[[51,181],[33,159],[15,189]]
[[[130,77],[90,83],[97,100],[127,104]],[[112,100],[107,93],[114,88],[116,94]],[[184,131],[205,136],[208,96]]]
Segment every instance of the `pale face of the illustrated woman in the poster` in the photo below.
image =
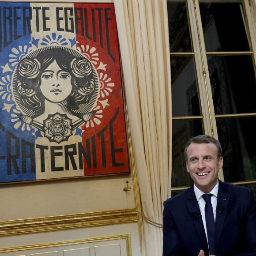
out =
[[48,101],[63,102],[72,91],[71,75],[62,70],[54,60],[42,72],[40,89]]

